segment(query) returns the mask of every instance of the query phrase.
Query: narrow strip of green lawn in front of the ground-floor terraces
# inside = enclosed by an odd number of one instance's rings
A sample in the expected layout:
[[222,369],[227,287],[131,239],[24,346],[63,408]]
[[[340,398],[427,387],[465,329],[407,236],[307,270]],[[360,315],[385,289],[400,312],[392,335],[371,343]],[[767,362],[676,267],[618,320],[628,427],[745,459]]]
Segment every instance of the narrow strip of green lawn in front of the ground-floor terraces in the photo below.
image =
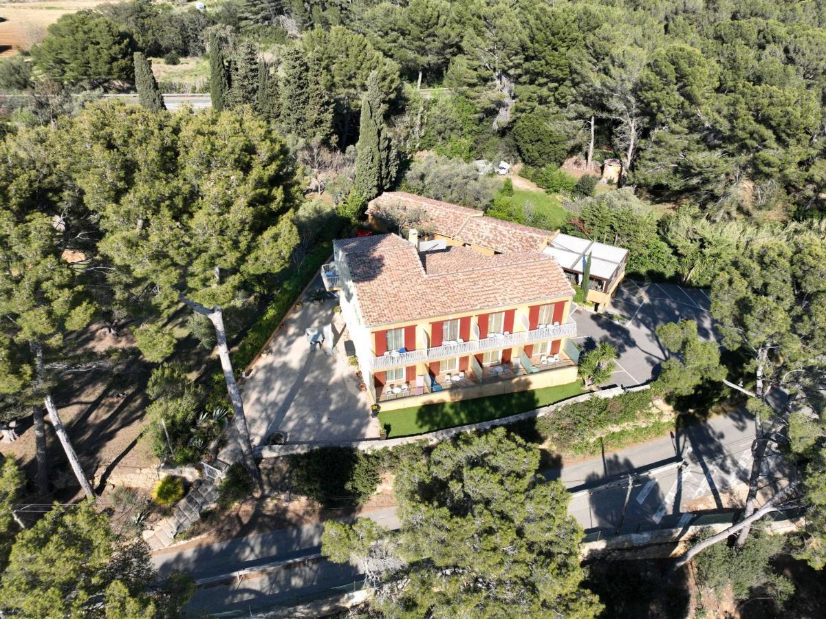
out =
[[421,407],[401,408],[397,411],[378,413],[382,426],[389,426],[388,438],[411,436],[434,430],[444,430],[468,423],[510,417],[520,412],[532,411],[553,402],[584,393],[582,382],[546,387],[533,391],[505,393],[490,398],[458,400],[440,404],[425,404]]

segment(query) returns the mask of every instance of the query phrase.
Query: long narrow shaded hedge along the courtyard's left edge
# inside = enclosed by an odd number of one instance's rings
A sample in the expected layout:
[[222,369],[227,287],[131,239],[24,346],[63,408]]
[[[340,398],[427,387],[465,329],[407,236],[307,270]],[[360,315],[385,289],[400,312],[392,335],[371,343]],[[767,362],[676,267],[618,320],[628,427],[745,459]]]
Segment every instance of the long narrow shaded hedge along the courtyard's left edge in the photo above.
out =
[[324,243],[312,250],[301,263],[298,269],[292,271],[290,276],[284,280],[275,298],[269,303],[267,311],[249,327],[244,339],[232,353],[232,367],[235,374],[239,375],[259,354],[259,350],[267,343],[269,336],[273,334],[275,328],[287,315],[290,307],[301,294],[301,291],[316,276],[318,269],[333,253],[333,245]]

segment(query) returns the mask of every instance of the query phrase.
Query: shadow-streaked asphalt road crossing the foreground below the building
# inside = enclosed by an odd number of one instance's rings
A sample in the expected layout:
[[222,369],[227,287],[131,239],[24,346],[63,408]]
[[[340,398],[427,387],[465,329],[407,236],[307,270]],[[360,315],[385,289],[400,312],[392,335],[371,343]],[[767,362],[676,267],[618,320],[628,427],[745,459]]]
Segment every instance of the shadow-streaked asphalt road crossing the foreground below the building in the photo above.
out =
[[[699,502],[705,508],[728,507],[723,502],[724,491],[748,479],[753,436],[752,418],[733,413],[690,426],[677,436],[543,474],[547,479],[561,479],[571,490],[568,512],[588,532],[614,534],[680,526],[686,523],[684,511]],[[688,466],[678,469],[683,459]],[[389,528],[398,526],[392,507],[369,516]],[[360,578],[358,569],[317,557],[322,529],[313,524],[168,550],[154,555],[153,562],[161,573],[183,569],[195,579],[204,579],[292,559],[283,567],[248,574],[240,582],[199,587],[188,610],[249,613],[288,606],[323,597],[333,588],[354,587]],[[306,560],[295,560],[302,558]]]

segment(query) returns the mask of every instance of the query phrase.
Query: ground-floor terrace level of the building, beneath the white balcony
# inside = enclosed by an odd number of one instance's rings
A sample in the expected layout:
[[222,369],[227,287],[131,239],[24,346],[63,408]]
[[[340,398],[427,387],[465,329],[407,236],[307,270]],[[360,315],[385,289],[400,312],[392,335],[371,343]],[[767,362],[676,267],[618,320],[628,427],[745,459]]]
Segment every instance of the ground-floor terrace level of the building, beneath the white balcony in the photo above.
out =
[[560,340],[373,374],[382,410],[552,387],[577,380],[578,350]]

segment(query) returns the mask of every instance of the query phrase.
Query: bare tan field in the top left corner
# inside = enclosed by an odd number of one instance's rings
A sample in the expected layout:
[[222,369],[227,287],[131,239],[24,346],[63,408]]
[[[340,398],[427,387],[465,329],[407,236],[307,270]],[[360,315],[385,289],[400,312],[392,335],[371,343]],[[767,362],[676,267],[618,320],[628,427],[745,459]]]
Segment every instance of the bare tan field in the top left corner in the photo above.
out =
[[116,0],[45,0],[0,2],[0,55],[28,50],[45,37],[46,28],[68,13],[91,9]]

